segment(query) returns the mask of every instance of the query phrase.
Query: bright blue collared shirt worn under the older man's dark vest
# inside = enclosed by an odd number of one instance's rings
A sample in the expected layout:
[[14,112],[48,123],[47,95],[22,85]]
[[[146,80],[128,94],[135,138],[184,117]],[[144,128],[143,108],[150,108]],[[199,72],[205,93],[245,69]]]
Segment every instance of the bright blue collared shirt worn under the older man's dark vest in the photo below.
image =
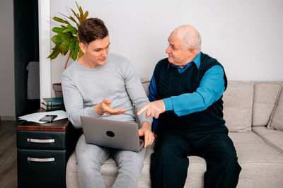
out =
[[[168,64],[169,66],[175,66],[179,73],[182,74],[185,70],[189,69],[192,64],[200,67],[200,54],[193,59],[190,63],[186,64],[183,68]],[[200,112],[206,110],[207,107],[212,105],[213,102],[219,100],[225,90],[224,70],[221,66],[215,65],[207,70],[200,81],[200,86],[194,93],[184,93],[178,96],[171,96],[170,98],[163,98],[166,111],[174,111],[177,116],[191,114],[193,112]],[[149,101],[157,100],[158,90],[156,87],[156,81],[154,75],[151,78],[149,84]],[[158,127],[158,119],[154,119],[152,123],[152,129],[155,130]]]

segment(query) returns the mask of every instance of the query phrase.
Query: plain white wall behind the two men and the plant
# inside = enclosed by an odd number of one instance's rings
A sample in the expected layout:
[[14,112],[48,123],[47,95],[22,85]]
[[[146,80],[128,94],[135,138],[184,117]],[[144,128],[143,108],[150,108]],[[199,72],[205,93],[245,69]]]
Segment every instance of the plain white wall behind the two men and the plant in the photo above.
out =
[[[171,31],[190,24],[202,35],[202,52],[223,64],[229,80],[283,80],[282,0],[78,2],[89,17],[105,21],[110,51],[129,58],[141,78],[151,78],[156,62],[166,57]],[[68,15],[69,7],[76,10],[73,0],[50,0],[50,15]],[[51,62],[52,83],[61,81],[66,58]]]

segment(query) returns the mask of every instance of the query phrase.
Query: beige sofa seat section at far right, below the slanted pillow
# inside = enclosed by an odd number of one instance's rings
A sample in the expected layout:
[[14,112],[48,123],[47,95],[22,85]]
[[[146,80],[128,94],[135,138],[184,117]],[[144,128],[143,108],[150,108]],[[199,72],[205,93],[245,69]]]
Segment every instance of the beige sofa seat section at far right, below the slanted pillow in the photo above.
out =
[[267,144],[283,153],[283,131],[267,129],[267,127],[253,127],[253,131]]

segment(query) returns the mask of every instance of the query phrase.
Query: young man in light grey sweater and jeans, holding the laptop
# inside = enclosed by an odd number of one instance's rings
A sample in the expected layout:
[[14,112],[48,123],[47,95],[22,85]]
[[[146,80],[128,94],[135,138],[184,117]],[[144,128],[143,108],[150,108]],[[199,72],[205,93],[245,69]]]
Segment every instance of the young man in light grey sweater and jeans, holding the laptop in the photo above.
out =
[[[80,116],[134,122],[133,107],[140,110],[149,100],[139,77],[128,59],[108,53],[108,30],[102,20],[88,18],[79,25],[79,47],[83,57],[62,74],[64,104],[69,120],[81,128]],[[139,117],[144,148],[154,141],[152,119]],[[76,144],[80,187],[105,187],[100,165],[110,156],[117,162],[119,174],[113,187],[137,187],[144,161],[140,152],[107,148],[86,143],[82,134]]]

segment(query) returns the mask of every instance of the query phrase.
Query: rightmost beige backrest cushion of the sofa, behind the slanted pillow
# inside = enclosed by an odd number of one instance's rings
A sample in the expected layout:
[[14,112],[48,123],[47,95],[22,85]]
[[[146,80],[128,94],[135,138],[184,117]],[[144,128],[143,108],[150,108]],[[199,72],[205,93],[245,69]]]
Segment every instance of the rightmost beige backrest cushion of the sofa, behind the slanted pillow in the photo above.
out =
[[255,82],[253,97],[253,127],[267,126],[270,115],[275,107],[281,82],[258,81]]

